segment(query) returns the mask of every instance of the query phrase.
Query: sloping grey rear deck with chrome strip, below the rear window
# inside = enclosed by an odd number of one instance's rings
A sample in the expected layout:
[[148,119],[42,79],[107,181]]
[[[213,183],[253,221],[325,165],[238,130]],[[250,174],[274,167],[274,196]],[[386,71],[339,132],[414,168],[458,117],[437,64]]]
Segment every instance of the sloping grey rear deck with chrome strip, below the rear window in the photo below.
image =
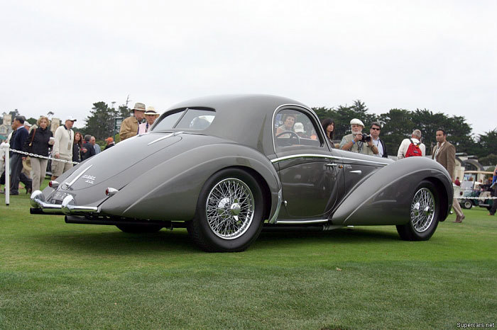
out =
[[56,191],[47,188],[43,193],[51,203],[61,203],[70,194],[77,205],[100,205],[107,198],[107,188],[120,190],[143,173],[186,150],[223,141],[217,137],[181,132],[131,137],[78,164],[58,178],[60,186]]

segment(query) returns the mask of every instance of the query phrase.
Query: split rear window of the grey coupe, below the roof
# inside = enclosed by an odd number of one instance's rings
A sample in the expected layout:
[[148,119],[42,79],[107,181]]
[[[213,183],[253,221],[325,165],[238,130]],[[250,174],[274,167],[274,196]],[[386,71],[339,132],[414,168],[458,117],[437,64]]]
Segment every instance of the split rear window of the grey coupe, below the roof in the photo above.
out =
[[216,117],[214,109],[183,108],[170,112],[153,127],[153,131],[170,130],[176,128],[180,130],[204,130]]

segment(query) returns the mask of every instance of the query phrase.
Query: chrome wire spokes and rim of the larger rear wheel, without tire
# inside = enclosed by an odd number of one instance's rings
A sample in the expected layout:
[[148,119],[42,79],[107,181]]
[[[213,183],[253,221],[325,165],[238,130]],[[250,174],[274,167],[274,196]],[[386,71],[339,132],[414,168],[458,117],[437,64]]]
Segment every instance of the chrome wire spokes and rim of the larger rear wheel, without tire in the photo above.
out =
[[249,186],[238,178],[219,181],[210,191],[205,215],[210,229],[222,239],[236,239],[249,229],[255,210]]

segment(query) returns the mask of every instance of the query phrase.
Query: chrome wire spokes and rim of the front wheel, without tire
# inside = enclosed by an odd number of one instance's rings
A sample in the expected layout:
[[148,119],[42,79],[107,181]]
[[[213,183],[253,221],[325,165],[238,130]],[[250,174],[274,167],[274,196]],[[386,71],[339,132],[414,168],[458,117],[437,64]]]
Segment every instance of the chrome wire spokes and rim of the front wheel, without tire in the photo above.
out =
[[435,198],[428,188],[420,188],[410,207],[410,221],[417,232],[425,232],[435,217]]

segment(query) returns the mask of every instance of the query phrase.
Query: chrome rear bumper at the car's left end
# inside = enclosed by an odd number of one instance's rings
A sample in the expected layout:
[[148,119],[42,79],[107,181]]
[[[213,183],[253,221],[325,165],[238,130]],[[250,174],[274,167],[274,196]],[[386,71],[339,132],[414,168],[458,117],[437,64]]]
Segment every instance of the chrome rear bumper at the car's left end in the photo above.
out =
[[33,191],[30,203],[34,209],[40,209],[43,213],[55,215],[82,215],[84,213],[98,212],[98,207],[96,206],[75,205],[72,195],[65,196],[64,200],[62,200],[62,205],[46,203],[45,196],[40,190]]

